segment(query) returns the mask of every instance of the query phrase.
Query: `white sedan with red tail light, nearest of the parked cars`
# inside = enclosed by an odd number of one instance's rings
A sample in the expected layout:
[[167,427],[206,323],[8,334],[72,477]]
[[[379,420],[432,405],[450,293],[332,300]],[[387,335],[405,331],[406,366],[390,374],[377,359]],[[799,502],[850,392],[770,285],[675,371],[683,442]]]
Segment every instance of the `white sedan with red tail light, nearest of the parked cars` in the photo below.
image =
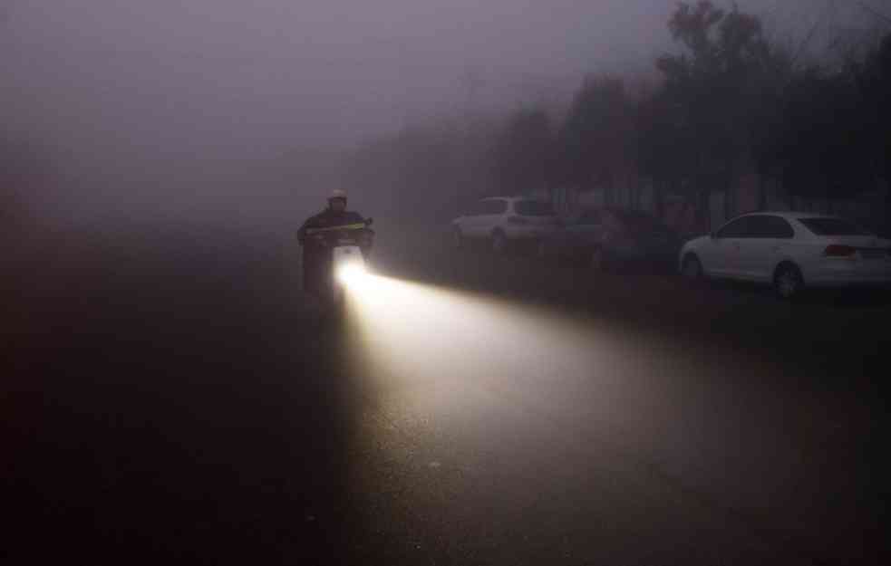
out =
[[770,283],[781,297],[791,298],[805,285],[891,284],[891,240],[838,216],[752,213],[687,242],[679,267],[690,279]]

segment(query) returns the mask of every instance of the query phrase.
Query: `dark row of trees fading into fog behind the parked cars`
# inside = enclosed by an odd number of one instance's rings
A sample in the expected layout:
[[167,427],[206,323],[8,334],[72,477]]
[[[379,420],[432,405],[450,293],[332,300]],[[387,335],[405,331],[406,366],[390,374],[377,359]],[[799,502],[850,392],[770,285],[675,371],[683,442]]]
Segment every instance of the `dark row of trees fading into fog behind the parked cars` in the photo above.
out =
[[532,106],[406,131],[360,150],[350,178],[443,216],[470,197],[554,187],[597,188],[608,201],[645,178],[657,209],[666,195],[683,197],[701,225],[712,194],[731,194],[743,176],[759,179],[762,208],[769,186],[821,200],[886,190],[891,34],[842,64],[818,64],[771,43],[736,7],[681,3],[667,25],[678,49],[654,62],[659,80],[644,92],[596,76],[560,113]]

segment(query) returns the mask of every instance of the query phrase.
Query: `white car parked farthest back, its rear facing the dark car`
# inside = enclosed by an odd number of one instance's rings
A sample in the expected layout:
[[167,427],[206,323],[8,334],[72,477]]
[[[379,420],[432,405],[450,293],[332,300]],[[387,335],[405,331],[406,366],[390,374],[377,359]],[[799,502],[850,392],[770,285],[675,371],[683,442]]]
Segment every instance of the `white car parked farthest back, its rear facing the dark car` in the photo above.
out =
[[529,197],[483,198],[451,221],[456,246],[488,240],[496,253],[504,252],[511,242],[538,241],[556,228],[550,203]]

